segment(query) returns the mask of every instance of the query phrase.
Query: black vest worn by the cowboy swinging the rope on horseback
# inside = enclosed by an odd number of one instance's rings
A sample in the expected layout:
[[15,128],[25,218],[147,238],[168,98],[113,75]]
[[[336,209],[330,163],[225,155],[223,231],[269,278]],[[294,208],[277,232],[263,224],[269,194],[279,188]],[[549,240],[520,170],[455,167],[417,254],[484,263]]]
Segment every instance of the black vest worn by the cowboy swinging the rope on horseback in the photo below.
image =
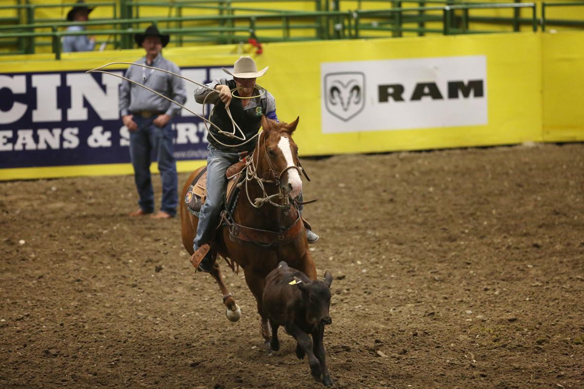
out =
[[[237,85],[235,85],[234,80],[228,80],[227,86],[229,87],[229,89],[234,89]],[[254,92],[254,94],[256,93],[258,93],[257,90]],[[235,96],[239,96],[239,92],[237,90],[234,92],[234,94]],[[237,97],[233,97],[231,99],[231,103],[229,104],[231,116],[239,125],[239,128],[241,128],[241,131],[244,132],[245,139],[249,139],[253,135],[257,134],[259,128],[262,126],[262,114],[265,115],[267,110],[267,99],[265,98],[265,94],[262,97],[264,98],[262,99],[261,97],[258,97],[256,99],[253,99],[256,101],[257,104],[252,104],[252,101],[250,101],[249,105],[245,108],[241,104],[242,102],[241,99],[237,99]],[[225,132],[233,131],[233,124],[231,122],[231,119],[227,115],[227,111],[225,110],[225,104],[223,103],[223,101],[219,100],[217,101],[217,103],[215,103],[215,108],[213,114],[211,115],[211,122],[213,122],[213,124],[215,124],[217,127],[221,128],[221,131]],[[209,126],[209,131],[213,132],[215,138],[217,138],[218,141],[220,141],[221,143],[225,143],[225,145],[230,146],[238,145],[239,143],[244,142],[239,139],[230,138],[229,136],[218,134],[217,128],[213,127],[212,125]],[[235,129],[235,136],[241,138],[241,133],[237,128]],[[228,147],[220,145],[219,143],[217,143],[217,141],[215,141],[215,139],[213,139],[213,136],[211,136],[210,134],[207,135],[207,141],[217,149],[224,150],[227,152],[238,153],[242,151],[251,152],[253,148],[255,148],[257,138],[239,147]]]

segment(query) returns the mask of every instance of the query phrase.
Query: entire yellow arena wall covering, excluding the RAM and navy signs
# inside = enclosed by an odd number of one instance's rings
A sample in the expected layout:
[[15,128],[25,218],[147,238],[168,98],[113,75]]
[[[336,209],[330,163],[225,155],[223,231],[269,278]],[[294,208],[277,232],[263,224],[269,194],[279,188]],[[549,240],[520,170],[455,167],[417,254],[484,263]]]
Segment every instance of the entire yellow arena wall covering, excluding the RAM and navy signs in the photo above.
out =
[[[584,113],[580,109],[584,93],[584,85],[581,84],[584,81],[579,75],[584,66],[584,54],[575,48],[584,47],[583,40],[582,33],[516,33],[277,43],[266,44],[264,54],[255,59],[258,68],[270,66],[258,83],[276,97],[280,120],[290,122],[300,116],[294,139],[304,156],[501,145],[524,141],[581,141],[584,140]],[[182,67],[232,64],[240,54],[235,45],[170,48],[164,51],[166,58]],[[134,61],[141,55],[142,50],[131,50],[64,54],[61,61],[54,61],[48,55],[30,56],[26,60],[22,57],[4,57],[0,59],[0,74],[83,71],[107,62]],[[356,132],[322,131],[322,64],[337,63],[342,66],[344,62],[359,61],[359,64],[366,65],[371,61],[391,63],[394,60],[458,57],[485,59],[484,124],[399,129],[388,120],[387,128],[392,128],[391,131],[379,129],[379,126],[385,125],[383,122],[374,123],[377,126],[375,131],[367,128],[366,131]],[[123,68],[125,66],[118,67]],[[368,78],[375,76],[367,74]],[[468,114],[460,112],[460,115]],[[0,160],[5,155],[0,152]],[[201,163],[185,160],[178,163],[178,169],[192,170]],[[0,169],[0,180],[125,174],[131,171],[130,164],[126,163],[22,167]]]

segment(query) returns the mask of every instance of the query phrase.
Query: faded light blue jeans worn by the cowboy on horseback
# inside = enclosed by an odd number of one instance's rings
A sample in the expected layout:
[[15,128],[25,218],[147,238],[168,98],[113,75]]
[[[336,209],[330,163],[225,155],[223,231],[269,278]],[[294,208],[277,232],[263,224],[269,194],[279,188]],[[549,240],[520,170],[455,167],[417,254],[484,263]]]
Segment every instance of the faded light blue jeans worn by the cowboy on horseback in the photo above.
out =
[[[207,154],[207,197],[199,213],[197,236],[193,240],[194,251],[197,251],[201,244],[209,242],[211,228],[217,223],[225,202],[225,191],[227,191],[225,170],[239,161],[238,153],[228,153],[211,145],[207,149],[209,150]],[[302,192],[300,192],[298,199],[302,201],[302,198]],[[298,208],[302,213],[304,206],[300,205]]]

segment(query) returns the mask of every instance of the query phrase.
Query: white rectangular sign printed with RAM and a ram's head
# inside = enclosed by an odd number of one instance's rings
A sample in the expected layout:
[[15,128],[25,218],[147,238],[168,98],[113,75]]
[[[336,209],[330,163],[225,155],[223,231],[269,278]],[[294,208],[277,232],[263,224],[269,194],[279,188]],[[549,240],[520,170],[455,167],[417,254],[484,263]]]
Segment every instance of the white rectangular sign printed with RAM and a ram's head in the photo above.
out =
[[322,132],[485,125],[486,57],[321,64]]

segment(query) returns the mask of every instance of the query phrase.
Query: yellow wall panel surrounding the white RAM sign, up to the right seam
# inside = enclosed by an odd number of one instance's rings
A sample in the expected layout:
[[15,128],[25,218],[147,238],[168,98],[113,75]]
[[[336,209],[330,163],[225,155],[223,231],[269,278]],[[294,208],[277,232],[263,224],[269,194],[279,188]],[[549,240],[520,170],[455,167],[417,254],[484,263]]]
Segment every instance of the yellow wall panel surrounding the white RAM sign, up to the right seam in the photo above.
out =
[[[488,124],[404,131],[322,134],[321,62],[485,55]],[[263,86],[278,115],[300,115],[304,155],[383,152],[541,141],[541,43],[533,33],[272,45],[259,58],[270,65]]]

